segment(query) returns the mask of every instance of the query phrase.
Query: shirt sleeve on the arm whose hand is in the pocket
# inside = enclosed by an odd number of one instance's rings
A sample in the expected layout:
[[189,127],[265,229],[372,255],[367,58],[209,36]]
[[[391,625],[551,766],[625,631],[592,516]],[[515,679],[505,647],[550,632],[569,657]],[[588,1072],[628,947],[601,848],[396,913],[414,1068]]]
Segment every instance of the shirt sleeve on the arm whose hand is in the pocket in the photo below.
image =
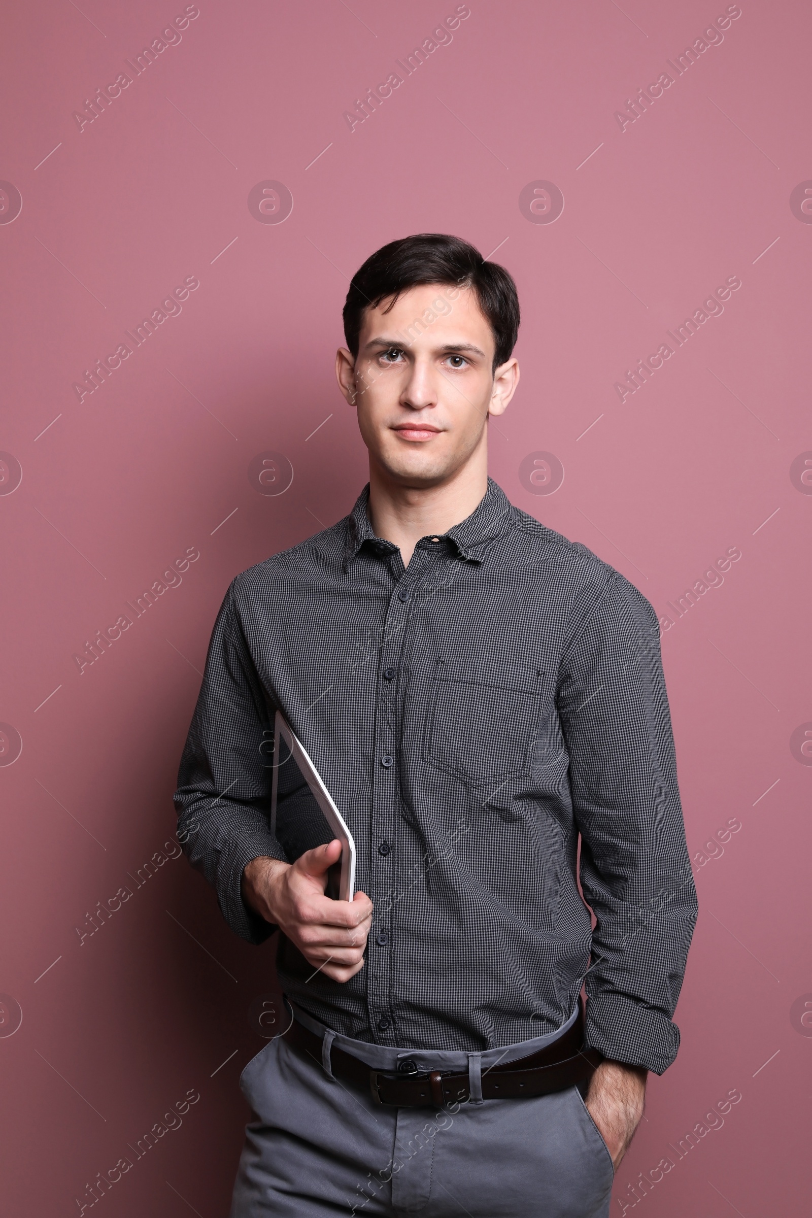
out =
[[656,1074],[696,922],[657,616],[612,571],[561,661],[558,709],[581,832],[581,885],[597,924],[587,1044]]

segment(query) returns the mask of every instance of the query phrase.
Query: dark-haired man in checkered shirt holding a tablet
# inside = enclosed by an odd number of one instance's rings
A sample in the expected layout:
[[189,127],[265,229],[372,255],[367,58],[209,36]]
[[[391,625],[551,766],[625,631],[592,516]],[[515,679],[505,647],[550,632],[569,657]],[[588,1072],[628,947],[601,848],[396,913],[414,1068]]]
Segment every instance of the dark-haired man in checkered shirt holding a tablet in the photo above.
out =
[[[369,486],[231,583],[175,795],[234,931],[279,928],[291,1012],[242,1074],[231,1216],[605,1216],[696,918],[657,618],[487,476],[519,382],[502,267],[393,241],[343,319]],[[276,709],[355,840],[352,901],[325,895],[340,842],[271,832],[273,766],[278,826],[303,789]]]

